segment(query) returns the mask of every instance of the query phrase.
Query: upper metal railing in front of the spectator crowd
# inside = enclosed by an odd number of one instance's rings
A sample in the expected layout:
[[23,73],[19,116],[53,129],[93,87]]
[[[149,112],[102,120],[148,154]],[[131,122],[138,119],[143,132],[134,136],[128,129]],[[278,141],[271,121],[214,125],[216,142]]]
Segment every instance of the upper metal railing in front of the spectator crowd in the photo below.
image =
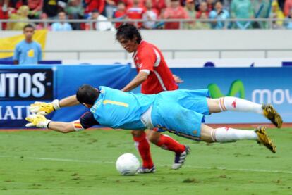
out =
[[88,20],[88,19],[67,19],[67,20],[40,20],[40,19],[30,19],[30,20],[0,20],[0,30],[3,30],[3,24],[4,23],[43,23],[44,28],[47,28],[49,24],[55,23],[55,22],[67,22],[67,23],[87,23],[90,25],[89,30],[93,30],[93,25],[95,23],[134,23],[135,25],[138,25],[138,23],[144,23],[144,22],[155,22],[157,24],[161,23],[179,23],[180,29],[183,29],[184,23],[224,23],[224,28],[229,28],[230,23],[238,23],[238,22],[246,22],[246,23],[266,23],[264,29],[272,29],[274,24],[277,21],[281,22],[292,22],[292,19],[275,19],[275,18],[250,18],[250,19],[239,19],[239,18],[229,18],[225,20],[221,19],[157,19],[157,20],[117,20],[117,19],[110,19],[110,20]]

